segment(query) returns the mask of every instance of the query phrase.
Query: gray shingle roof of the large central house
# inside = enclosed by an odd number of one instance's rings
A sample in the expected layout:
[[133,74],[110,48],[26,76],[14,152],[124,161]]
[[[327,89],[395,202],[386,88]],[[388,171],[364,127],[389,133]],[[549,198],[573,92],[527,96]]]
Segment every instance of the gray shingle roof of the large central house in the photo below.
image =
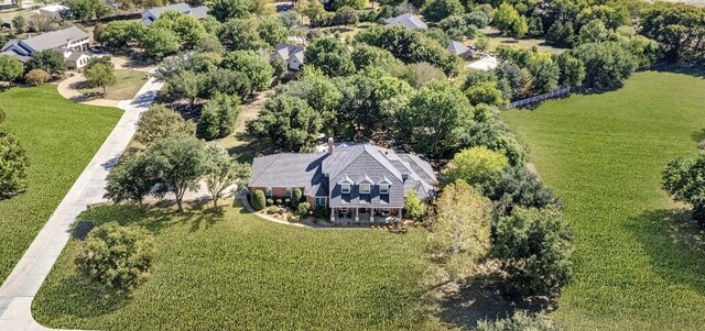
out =
[[[352,181],[349,194],[340,184]],[[360,194],[359,184],[371,183],[371,192]],[[380,195],[379,184],[390,184]],[[303,187],[306,196],[328,196],[330,207],[402,208],[404,196],[415,189],[420,197],[435,195],[437,184],[431,165],[412,154],[368,144],[335,148],[333,154],[282,153],[256,157],[250,187]]]

